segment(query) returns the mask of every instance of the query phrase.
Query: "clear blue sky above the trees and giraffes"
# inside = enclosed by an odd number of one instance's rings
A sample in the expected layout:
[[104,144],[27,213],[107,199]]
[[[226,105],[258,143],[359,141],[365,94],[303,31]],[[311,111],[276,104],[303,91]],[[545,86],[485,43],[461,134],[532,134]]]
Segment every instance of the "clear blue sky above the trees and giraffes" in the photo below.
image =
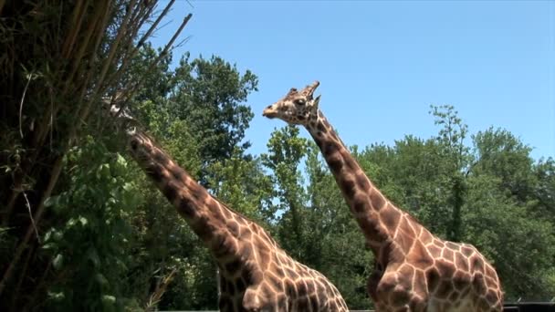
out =
[[429,105],[452,104],[471,133],[505,128],[535,158],[555,156],[555,1],[178,0],[153,44],[190,12],[174,62],[215,54],[259,78],[253,153],[284,125],[262,109],[318,79],[320,109],[348,145],[429,138]]

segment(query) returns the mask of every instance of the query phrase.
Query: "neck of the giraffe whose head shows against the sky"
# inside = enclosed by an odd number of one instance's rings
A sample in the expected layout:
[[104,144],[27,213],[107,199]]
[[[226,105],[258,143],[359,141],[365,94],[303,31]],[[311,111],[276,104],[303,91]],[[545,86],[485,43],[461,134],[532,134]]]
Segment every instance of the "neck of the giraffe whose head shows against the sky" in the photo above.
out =
[[[386,265],[399,252],[406,255],[408,250],[403,250],[406,249],[403,248],[405,244],[398,242],[406,236],[404,233],[399,233],[398,229],[413,225],[408,213],[404,213],[390,203],[368,179],[358,161],[352,157],[351,152],[321,111],[318,113],[318,118],[311,120],[306,128],[319,146],[378,262]],[[412,236],[416,237],[421,230],[420,227],[414,228],[415,233]]]

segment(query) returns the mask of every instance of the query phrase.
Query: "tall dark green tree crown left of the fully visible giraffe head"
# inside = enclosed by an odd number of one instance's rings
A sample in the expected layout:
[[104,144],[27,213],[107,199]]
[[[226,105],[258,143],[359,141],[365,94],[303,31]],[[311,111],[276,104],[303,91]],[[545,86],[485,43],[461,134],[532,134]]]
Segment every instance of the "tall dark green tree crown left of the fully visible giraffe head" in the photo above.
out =
[[246,70],[240,74],[221,57],[190,60],[186,54],[175,69],[170,94],[171,111],[189,125],[204,165],[230,158],[234,150],[245,151],[243,141],[253,113],[241,104],[258,79]]

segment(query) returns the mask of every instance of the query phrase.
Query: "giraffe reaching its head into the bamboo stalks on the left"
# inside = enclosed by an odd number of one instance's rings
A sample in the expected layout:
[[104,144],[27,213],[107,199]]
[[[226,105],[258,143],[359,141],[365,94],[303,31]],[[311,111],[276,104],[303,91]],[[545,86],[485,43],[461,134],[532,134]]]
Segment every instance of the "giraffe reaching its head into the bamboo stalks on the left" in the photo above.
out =
[[131,157],[173,203],[220,270],[221,311],[348,311],[338,289],[291,258],[260,225],[212,196],[124,109],[113,105]]

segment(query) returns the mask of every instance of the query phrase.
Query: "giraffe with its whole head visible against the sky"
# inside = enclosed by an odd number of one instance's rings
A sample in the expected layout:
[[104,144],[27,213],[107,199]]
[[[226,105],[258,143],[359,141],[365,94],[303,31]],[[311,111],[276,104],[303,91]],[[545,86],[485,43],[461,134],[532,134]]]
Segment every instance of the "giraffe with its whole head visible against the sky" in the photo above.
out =
[[493,266],[473,245],[431,234],[380,192],[319,110],[318,86],[291,88],[263,116],[304,126],[319,146],[374,255],[367,291],[376,311],[501,311]]

